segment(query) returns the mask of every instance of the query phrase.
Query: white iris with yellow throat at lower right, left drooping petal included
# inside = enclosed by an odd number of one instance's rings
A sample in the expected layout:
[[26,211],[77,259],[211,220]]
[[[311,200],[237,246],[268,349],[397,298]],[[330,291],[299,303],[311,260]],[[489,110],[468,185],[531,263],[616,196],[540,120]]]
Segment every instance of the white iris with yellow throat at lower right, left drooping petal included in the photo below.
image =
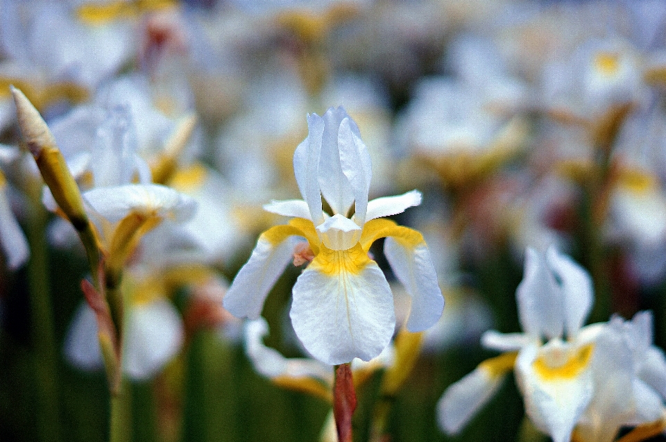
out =
[[445,391],[439,423],[448,433],[459,432],[513,369],[536,427],[554,442],[568,442],[594,393],[592,355],[602,325],[581,328],[592,306],[592,281],[554,248],[546,255],[528,248],[516,298],[524,333],[484,334],[484,346],[505,353]]

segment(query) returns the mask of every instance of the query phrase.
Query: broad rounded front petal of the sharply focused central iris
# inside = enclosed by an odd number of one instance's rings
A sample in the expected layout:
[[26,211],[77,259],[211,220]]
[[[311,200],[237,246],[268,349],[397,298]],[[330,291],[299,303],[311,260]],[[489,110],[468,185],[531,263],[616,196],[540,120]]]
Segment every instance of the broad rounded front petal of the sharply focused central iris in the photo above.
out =
[[320,253],[293,286],[293,329],[311,355],[330,365],[373,359],[395,328],[384,273],[373,261],[358,268],[345,261],[345,253],[334,252],[339,261],[324,266],[318,263]]

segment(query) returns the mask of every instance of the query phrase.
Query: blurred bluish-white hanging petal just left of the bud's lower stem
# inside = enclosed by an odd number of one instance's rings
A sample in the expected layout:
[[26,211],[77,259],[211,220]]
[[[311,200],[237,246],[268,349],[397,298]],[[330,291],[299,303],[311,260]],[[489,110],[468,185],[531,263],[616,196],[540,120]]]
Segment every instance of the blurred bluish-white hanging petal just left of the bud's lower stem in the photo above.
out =
[[86,303],[81,303],[74,313],[65,336],[64,351],[65,358],[82,370],[96,370],[103,365],[95,313]]

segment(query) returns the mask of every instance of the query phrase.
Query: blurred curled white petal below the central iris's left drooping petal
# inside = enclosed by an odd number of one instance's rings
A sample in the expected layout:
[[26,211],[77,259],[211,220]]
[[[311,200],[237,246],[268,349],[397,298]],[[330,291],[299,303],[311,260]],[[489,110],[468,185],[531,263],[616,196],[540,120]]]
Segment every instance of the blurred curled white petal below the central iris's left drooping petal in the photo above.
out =
[[246,354],[255,370],[266,377],[314,377],[329,384],[333,381],[331,366],[316,359],[304,357],[287,358],[275,348],[266,347],[264,337],[268,335],[268,323],[262,317],[248,321],[245,325]]

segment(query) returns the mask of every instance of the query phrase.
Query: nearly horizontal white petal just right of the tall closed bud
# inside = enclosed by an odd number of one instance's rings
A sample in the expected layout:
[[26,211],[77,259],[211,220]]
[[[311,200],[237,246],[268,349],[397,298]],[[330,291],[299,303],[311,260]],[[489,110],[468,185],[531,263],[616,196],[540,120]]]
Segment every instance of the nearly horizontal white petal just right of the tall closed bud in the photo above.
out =
[[83,198],[111,222],[120,221],[130,212],[182,222],[190,219],[196,210],[194,198],[157,184],[96,187],[84,192]]

